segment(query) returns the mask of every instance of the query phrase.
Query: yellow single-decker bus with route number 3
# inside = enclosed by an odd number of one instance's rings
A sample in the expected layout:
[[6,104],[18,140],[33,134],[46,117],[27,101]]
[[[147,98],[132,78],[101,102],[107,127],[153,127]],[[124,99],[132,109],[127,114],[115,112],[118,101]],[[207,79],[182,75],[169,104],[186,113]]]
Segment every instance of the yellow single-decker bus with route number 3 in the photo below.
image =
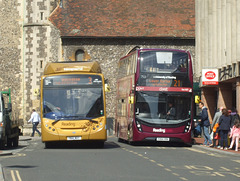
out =
[[58,62],[41,79],[42,141],[107,139],[104,77],[97,62]]

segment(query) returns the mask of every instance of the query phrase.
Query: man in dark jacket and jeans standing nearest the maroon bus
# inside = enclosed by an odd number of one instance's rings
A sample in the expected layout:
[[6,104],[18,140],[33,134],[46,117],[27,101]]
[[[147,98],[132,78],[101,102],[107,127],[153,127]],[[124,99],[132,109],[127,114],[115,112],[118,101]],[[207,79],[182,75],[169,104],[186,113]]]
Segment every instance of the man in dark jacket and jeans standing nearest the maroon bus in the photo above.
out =
[[209,119],[208,119],[207,107],[204,106],[203,102],[200,102],[199,103],[199,108],[202,109],[201,120],[199,120],[199,121],[200,121],[201,127],[203,129],[203,135],[204,135],[203,145],[204,146],[213,146],[212,140],[211,140],[210,135],[209,135],[210,122],[209,122]]

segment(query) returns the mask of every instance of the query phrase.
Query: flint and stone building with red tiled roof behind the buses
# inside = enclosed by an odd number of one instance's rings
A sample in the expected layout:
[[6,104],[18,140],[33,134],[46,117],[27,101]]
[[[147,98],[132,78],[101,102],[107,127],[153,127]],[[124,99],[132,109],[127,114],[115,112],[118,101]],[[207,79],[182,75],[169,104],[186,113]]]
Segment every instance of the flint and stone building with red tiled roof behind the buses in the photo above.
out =
[[15,112],[24,123],[32,107],[39,110],[47,62],[99,61],[112,90],[107,113],[113,118],[117,61],[129,49],[188,49],[195,55],[195,0],[11,0],[0,5],[6,8],[0,20],[8,27],[0,31],[5,50],[0,51],[0,89],[12,89]]

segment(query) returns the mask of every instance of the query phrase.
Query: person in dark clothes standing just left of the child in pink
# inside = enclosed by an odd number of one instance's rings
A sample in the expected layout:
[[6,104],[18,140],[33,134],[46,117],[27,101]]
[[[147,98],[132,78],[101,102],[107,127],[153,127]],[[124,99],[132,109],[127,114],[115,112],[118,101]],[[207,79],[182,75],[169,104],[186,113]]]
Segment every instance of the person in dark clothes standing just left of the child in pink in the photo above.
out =
[[[230,131],[231,118],[227,109],[222,110],[223,115],[219,119],[220,149],[228,148],[228,132]],[[225,148],[224,148],[225,146]]]

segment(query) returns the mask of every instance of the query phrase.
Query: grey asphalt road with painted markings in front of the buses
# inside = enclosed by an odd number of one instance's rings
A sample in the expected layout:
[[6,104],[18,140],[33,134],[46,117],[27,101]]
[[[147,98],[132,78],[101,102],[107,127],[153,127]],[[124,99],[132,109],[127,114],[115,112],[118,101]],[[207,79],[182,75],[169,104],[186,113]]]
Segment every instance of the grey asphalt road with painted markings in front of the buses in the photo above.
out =
[[28,141],[0,157],[5,181],[239,181],[239,154],[202,146],[131,146],[109,137],[103,149]]

